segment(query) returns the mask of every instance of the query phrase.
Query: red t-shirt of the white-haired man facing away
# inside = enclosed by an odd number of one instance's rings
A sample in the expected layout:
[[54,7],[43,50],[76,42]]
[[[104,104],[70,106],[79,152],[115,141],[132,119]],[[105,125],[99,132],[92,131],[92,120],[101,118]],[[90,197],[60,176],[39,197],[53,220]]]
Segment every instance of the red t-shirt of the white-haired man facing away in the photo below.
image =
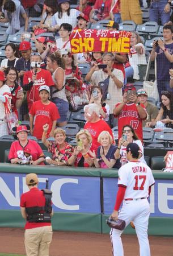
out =
[[[99,137],[99,134],[102,133],[102,131],[108,131],[109,134],[111,134],[111,136],[113,138],[111,128],[108,126],[107,122],[105,122],[102,119],[100,119],[96,123],[86,122],[84,129],[88,130],[89,133],[91,134],[92,144],[96,148],[98,148],[98,146],[100,146],[100,143],[98,142],[98,137]],[[114,139],[113,139],[113,141],[114,141]]]

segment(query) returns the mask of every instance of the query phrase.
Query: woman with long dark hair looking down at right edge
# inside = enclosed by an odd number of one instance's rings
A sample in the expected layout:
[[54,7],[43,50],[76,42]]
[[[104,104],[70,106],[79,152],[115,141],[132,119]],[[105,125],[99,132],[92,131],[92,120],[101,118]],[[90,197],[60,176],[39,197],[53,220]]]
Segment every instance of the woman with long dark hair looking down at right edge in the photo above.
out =
[[155,121],[149,123],[149,127],[155,126],[158,121],[164,123],[166,127],[173,128],[173,94],[168,90],[162,90],[161,109]]

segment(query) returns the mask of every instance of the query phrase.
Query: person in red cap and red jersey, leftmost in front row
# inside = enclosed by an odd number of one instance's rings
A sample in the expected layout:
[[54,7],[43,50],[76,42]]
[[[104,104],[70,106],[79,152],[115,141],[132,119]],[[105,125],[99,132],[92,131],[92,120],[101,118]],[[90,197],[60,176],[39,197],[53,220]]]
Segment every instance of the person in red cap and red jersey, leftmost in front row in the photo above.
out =
[[44,164],[43,150],[37,142],[28,139],[28,132],[29,130],[25,125],[17,127],[18,141],[11,144],[9,160],[13,164]]

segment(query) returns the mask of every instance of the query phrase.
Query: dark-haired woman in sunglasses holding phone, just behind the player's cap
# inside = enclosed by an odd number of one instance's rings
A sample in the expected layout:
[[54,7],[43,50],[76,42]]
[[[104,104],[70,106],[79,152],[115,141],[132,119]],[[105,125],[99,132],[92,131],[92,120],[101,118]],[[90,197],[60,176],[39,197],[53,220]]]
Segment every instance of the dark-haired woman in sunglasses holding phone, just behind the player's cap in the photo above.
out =
[[144,147],[142,145],[142,142],[136,135],[134,129],[130,125],[125,125],[122,130],[122,137],[119,139],[119,144],[117,147],[117,150],[115,151],[115,159],[120,159],[121,158],[121,164],[124,165],[127,163],[127,158],[126,158],[126,146],[129,143],[136,143],[140,147],[140,162],[145,163],[144,159]]

